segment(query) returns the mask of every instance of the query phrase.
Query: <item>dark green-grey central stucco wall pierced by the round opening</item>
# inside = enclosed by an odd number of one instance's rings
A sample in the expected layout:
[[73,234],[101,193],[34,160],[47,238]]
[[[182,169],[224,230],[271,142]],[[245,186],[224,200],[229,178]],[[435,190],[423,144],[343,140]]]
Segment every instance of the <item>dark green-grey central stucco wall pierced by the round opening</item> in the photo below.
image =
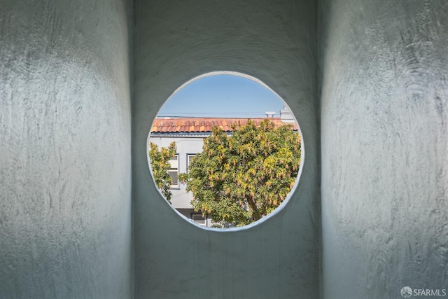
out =
[[[136,298],[318,298],[315,8],[314,1],[135,2]],[[146,158],[162,104],[210,71],[238,71],[269,85],[303,135],[303,174],[286,207],[238,232],[204,230],[178,216],[155,188]]]

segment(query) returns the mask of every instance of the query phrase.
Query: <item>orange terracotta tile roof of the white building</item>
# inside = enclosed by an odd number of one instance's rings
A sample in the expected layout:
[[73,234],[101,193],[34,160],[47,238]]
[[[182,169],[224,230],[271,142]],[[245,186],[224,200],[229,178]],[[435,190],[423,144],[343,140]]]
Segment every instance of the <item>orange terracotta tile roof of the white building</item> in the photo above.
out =
[[[257,125],[266,118],[251,118]],[[280,118],[269,118],[276,126],[287,125]],[[151,133],[181,133],[181,132],[211,132],[211,127],[217,125],[225,132],[232,131],[234,123],[245,125],[247,118],[156,118]],[[297,130],[297,124],[292,123],[293,130]]]

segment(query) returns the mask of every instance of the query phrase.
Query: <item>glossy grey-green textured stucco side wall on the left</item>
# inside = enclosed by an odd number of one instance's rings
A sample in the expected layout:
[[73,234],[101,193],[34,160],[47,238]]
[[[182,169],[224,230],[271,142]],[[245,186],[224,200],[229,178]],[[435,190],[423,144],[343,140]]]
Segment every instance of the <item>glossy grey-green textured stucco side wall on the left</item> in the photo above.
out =
[[124,1],[1,1],[0,298],[130,298]]

